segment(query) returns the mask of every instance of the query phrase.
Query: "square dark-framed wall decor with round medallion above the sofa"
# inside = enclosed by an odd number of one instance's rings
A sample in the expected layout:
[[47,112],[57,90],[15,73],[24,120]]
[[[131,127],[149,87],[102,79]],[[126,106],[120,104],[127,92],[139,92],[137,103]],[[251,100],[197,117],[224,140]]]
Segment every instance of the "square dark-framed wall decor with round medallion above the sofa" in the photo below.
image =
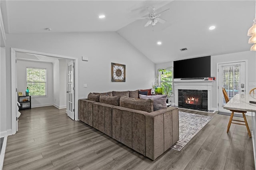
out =
[[125,65],[111,63],[111,81],[125,82]]

